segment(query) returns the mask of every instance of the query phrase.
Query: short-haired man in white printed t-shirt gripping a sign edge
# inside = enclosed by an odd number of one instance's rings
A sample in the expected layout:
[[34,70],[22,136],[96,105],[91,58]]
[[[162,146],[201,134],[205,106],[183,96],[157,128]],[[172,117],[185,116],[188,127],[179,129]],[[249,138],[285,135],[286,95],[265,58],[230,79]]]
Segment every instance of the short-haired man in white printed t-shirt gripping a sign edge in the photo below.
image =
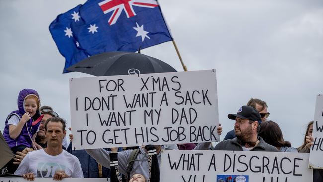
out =
[[48,119],[45,123],[47,147],[29,152],[14,174],[27,180],[34,180],[35,177],[54,180],[83,178],[78,158],[62,149],[62,141],[66,135],[65,126],[65,121],[59,117]]

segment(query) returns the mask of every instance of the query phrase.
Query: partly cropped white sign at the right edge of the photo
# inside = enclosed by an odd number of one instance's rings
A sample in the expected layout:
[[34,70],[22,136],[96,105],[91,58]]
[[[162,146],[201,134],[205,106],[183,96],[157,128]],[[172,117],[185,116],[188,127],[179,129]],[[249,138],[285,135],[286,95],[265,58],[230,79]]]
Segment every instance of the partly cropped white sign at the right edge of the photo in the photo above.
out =
[[310,150],[309,168],[323,169],[323,95],[317,95],[313,120],[313,145]]

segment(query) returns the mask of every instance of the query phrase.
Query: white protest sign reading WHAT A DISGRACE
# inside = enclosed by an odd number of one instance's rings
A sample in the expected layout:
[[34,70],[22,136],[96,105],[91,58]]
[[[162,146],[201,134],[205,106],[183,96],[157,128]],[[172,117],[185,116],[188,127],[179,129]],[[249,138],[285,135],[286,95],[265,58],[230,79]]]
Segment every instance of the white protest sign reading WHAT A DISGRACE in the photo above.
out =
[[165,150],[160,182],[312,182],[308,160],[308,153]]

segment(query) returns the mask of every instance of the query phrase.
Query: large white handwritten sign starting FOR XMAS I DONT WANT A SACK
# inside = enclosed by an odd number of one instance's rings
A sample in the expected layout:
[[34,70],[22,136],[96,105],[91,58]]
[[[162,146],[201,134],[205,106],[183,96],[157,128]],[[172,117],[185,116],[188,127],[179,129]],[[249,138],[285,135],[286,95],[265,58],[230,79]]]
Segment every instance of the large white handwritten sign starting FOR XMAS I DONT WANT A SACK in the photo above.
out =
[[215,70],[70,79],[75,149],[218,141]]

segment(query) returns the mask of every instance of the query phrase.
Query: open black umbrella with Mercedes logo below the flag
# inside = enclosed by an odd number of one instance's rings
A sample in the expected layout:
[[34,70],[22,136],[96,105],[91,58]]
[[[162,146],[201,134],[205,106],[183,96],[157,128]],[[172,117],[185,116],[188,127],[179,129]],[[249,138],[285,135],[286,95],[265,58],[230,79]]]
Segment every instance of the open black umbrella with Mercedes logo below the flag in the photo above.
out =
[[88,57],[67,70],[95,76],[176,72],[159,59],[134,52],[105,52]]

